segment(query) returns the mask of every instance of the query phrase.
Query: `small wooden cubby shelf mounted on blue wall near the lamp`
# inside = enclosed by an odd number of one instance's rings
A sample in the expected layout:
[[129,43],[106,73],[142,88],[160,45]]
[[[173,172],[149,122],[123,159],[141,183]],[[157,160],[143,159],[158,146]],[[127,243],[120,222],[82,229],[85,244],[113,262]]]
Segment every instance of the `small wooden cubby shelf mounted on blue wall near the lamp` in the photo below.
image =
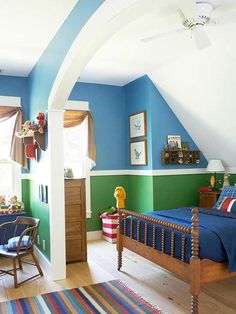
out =
[[193,165],[200,163],[199,150],[163,150],[161,152],[163,165]]

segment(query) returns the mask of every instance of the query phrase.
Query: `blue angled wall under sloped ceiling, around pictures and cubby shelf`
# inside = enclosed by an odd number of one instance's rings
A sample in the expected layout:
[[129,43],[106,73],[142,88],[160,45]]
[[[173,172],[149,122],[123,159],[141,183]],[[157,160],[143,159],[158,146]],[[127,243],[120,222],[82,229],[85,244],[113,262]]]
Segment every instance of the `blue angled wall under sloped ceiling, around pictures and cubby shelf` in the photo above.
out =
[[182,141],[189,142],[192,150],[198,150],[198,147],[148,76],[143,76],[124,88],[127,116],[143,110],[146,110],[147,115],[148,165],[129,168],[156,170],[206,167],[207,161],[203,155],[201,162],[196,165],[162,165],[161,151],[165,148],[167,135],[180,135]]

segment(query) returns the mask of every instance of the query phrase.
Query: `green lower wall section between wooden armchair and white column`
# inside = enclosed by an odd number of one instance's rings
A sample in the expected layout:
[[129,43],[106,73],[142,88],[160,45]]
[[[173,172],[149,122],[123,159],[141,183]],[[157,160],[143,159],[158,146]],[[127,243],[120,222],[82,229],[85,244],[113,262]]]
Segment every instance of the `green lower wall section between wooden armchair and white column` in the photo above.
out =
[[[38,182],[28,179],[22,180],[22,191],[25,211],[29,216],[40,219],[38,231],[40,244],[36,243],[36,245],[45,257],[50,260],[50,217],[48,204],[39,201]],[[45,240],[45,250],[43,250],[43,240]]]

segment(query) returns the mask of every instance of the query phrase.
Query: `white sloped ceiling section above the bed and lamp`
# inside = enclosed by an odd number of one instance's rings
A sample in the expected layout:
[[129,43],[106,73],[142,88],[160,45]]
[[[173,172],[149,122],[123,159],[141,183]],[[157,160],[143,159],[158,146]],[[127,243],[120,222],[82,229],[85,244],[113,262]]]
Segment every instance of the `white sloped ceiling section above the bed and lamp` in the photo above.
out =
[[[149,74],[209,159],[236,170],[236,53],[234,43],[186,55]],[[234,168],[234,169],[233,169]]]

